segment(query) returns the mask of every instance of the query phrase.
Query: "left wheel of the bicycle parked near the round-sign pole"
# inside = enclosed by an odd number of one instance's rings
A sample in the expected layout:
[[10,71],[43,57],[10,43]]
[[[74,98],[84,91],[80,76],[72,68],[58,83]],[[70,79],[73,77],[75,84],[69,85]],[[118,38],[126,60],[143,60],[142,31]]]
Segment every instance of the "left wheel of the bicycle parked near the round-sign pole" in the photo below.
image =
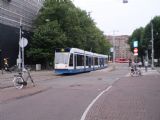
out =
[[13,83],[17,89],[23,88],[23,78],[22,77],[14,77]]

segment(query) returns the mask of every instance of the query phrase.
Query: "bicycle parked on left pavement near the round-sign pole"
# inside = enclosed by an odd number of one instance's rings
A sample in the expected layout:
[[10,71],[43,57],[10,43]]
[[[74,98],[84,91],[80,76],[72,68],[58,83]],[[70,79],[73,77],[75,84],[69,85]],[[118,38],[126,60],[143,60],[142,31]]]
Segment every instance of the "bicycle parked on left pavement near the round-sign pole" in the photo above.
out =
[[[25,73],[27,73],[26,78],[25,78]],[[25,70],[19,72],[18,75],[14,75],[14,78],[13,78],[14,86],[17,89],[22,89],[23,87],[27,86],[27,81],[29,78],[30,78],[33,86],[35,86],[35,83],[31,77],[31,74],[28,69],[25,69]]]

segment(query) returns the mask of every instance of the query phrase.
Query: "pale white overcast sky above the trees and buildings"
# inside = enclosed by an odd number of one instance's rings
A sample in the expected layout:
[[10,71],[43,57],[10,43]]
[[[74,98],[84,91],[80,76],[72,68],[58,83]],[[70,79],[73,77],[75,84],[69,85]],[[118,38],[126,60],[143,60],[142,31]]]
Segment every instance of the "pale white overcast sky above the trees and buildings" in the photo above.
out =
[[[106,35],[131,35],[160,15],[160,0],[72,0]],[[114,31],[114,32],[113,32]]]

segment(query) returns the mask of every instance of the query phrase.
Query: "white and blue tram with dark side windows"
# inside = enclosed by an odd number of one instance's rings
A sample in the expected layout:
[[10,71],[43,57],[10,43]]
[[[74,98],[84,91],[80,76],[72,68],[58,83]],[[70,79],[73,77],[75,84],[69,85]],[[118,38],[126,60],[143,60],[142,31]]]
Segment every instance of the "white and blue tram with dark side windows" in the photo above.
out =
[[55,73],[74,74],[103,69],[108,66],[108,56],[78,48],[55,50]]

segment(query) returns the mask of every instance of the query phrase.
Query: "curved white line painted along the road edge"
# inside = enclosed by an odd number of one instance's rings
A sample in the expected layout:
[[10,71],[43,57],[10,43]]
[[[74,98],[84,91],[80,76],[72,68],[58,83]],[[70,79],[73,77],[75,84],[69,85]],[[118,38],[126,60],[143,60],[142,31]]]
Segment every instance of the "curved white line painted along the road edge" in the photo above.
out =
[[107,89],[105,89],[104,91],[102,91],[90,104],[89,106],[87,107],[87,109],[84,111],[82,117],[80,120],[85,120],[86,116],[87,116],[87,113],[88,111],[90,110],[90,108],[93,106],[93,104],[107,91],[109,91],[109,89],[111,89],[112,86],[109,86]]

